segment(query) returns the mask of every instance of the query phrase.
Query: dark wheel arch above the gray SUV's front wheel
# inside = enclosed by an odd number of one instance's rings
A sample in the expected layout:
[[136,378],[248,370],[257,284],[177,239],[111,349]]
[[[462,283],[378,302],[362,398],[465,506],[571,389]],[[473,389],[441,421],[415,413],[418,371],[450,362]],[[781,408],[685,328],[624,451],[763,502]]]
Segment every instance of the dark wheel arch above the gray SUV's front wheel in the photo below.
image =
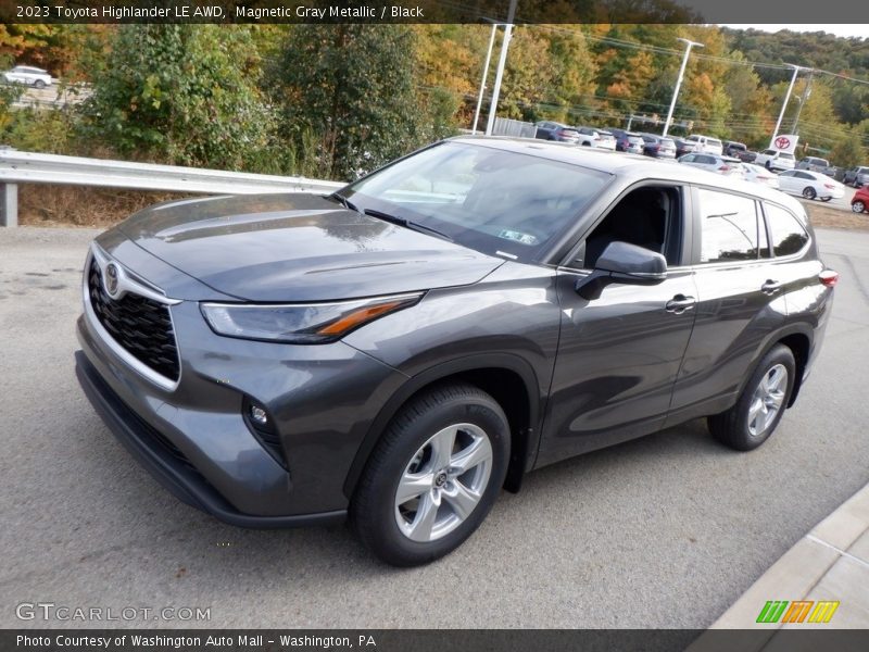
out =
[[399,410],[431,386],[451,379],[463,380],[491,394],[504,410],[511,429],[511,460],[504,487],[516,492],[525,472],[537,456],[542,415],[542,390],[532,366],[509,353],[470,355],[440,363],[411,377],[380,409],[344,480],[344,494],[352,498],[375,446]]

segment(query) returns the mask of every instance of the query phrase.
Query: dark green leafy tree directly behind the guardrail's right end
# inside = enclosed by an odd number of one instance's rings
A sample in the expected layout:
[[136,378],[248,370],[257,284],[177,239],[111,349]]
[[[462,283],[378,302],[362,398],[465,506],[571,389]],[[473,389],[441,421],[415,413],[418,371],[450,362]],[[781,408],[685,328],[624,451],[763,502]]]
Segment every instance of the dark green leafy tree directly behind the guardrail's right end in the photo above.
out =
[[[425,139],[414,34],[402,25],[297,25],[272,72],[281,129],[318,176],[352,179]],[[312,151],[313,149],[313,151]]]

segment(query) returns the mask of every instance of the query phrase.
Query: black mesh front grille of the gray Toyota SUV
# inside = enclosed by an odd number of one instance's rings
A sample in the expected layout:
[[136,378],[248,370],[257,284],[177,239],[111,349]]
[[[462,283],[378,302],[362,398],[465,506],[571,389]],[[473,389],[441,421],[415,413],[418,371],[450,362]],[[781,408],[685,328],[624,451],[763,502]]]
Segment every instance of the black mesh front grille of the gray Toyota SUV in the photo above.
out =
[[97,318],[118,344],[158,374],[178,379],[178,349],[166,305],[130,292],[112,299],[96,260],[90,262],[88,291]]

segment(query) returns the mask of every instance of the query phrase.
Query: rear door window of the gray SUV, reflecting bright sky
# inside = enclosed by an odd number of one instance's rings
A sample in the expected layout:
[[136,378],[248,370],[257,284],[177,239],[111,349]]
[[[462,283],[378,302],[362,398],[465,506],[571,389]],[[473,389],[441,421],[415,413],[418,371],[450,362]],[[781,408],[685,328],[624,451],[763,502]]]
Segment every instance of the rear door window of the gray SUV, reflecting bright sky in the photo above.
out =
[[701,216],[701,263],[747,261],[759,254],[755,201],[746,197],[697,190]]

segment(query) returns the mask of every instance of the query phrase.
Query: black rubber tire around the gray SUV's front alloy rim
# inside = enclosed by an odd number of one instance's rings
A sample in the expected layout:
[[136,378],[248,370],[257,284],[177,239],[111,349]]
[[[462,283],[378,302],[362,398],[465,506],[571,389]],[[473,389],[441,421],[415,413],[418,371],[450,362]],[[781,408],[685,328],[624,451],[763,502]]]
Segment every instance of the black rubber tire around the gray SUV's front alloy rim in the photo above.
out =
[[[433,540],[414,541],[399,526],[403,517],[396,505],[400,480],[406,473],[416,473],[412,471],[414,464],[424,464],[419,454],[429,450],[425,447],[437,432],[457,424],[479,428],[488,438],[492,453],[488,480],[478,491],[480,498],[476,506],[464,519],[455,512],[458,524],[454,529]],[[368,459],[350,505],[353,528],[375,555],[393,566],[417,566],[444,556],[474,534],[489,514],[504,484],[509,444],[509,425],[504,411],[481,389],[465,383],[450,383],[426,391],[401,409]],[[433,454],[432,449],[430,455]],[[432,462],[425,462],[429,463]],[[432,473],[441,475],[438,469]],[[438,485],[441,488],[438,490],[445,494],[451,482],[464,481],[465,477],[446,480]],[[436,487],[426,489],[426,494],[429,491],[434,496]],[[421,501],[423,496],[418,500]],[[452,518],[452,502],[443,494],[440,500],[446,501],[446,506],[439,503],[434,510],[437,518],[442,515]],[[415,523],[416,515],[411,521]],[[412,524],[408,522],[408,525]]]

